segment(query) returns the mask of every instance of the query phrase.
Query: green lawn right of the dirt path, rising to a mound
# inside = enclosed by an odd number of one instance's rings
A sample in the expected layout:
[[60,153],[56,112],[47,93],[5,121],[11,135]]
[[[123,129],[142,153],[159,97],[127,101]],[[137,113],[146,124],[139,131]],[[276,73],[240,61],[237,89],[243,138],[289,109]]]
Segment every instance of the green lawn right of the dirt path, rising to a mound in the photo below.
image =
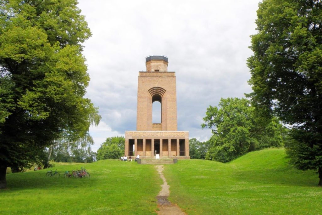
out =
[[314,171],[298,171],[283,149],[248,153],[229,163],[168,165],[169,200],[188,214],[322,214]]

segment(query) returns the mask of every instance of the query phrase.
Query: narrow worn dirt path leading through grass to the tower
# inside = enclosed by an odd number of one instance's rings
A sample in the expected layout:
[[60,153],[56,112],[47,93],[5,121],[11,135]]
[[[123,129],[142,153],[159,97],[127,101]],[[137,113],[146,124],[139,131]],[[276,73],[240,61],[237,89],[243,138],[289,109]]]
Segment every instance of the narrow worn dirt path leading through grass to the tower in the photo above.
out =
[[169,191],[169,185],[166,182],[166,178],[164,177],[162,171],[163,171],[163,166],[162,165],[157,165],[156,170],[160,174],[160,178],[163,180],[163,184],[161,184],[162,190],[159,192],[157,195],[156,199],[158,200],[158,206],[159,206],[159,211],[158,214],[160,215],[184,215],[185,213],[181,211],[181,209],[175,205],[172,204],[170,201],[168,201],[168,197],[170,195]]

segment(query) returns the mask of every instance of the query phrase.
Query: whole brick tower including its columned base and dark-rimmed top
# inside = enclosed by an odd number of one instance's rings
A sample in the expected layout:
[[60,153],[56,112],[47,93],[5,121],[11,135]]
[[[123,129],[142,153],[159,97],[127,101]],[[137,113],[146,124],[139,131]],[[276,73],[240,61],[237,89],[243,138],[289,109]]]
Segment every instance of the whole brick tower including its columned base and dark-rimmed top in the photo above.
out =
[[[152,103],[161,103],[161,122],[152,122]],[[189,132],[177,131],[175,72],[164,55],[146,57],[137,84],[137,131],[125,132],[125,154],[142,158],[189,157]]]

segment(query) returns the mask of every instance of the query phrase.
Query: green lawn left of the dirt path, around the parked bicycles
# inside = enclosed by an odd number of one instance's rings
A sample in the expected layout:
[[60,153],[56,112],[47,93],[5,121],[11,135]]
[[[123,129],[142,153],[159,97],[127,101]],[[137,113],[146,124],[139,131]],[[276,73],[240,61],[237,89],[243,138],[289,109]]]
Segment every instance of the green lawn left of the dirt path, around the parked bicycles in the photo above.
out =
[[64,178],[83,164],[56,163],[60,178],[46,170],[7,174],[0,214],[153,214],[162,180],[153,166],[104,160],[86,164],[90,179]]

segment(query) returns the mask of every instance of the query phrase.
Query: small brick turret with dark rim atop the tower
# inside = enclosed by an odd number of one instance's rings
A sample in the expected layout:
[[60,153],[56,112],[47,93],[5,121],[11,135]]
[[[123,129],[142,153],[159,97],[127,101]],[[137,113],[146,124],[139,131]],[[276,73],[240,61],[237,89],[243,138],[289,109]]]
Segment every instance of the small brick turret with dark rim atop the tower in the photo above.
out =
[[168,57],[164,55],[149,55],[145,58],[147,72],[168,72]]

